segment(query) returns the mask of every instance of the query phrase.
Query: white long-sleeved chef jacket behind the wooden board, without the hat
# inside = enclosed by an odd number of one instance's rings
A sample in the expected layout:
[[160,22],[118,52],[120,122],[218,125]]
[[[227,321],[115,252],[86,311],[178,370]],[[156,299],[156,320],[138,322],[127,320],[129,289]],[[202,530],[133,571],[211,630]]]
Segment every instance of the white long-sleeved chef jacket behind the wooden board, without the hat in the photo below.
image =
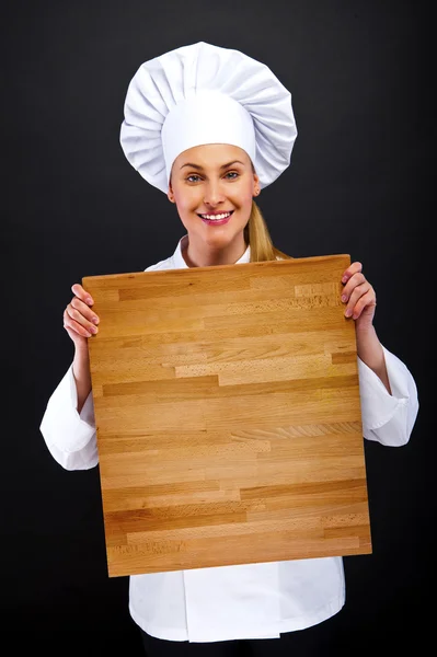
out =
[[[186,268],[182,255],[186,244],[184,235],[171,257],[146,272]],[[248,262],[250,247],[235,264]],[[383,349],[391,395],[358,359],[364,436],[400,447],[410,440],[416,419],[417,390],[405,365]],[[41,431],[66,470],[97,464],[92,394],[79,414],[72,366],[48,400]],[[179,642],[278,637],[329,619],[344,602],[340,556],[129,576],[133,620],[152,636]]]

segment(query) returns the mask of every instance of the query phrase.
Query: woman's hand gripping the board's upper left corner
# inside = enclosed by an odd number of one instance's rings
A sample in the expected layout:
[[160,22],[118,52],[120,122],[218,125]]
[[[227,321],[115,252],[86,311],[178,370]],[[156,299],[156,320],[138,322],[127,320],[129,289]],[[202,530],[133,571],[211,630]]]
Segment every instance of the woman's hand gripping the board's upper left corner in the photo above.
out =
[[74,297],[64,311],[64,327],[77,349],[87,349],[88,338],[97,333],[99,316],[92,310],[94,301],[81,285],[71,286]]

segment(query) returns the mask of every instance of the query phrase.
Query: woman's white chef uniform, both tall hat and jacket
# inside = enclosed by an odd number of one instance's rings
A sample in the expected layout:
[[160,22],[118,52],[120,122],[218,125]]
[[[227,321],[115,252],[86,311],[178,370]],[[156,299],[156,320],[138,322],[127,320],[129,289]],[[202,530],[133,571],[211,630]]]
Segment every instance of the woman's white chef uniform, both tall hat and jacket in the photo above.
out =
[[[203,143],[245,150],[265,187],[289,165],[296,136],[290,93],[265,65],[200,42],[140,66],[127,90],[120,145],[134,169],[166,194],[174,159]],[[187,240],[146,270],[187,267]],[[250,246],[235,264],[249,262]],[[364,436],[400,447],[410,440],[417,391],[406,366],[383,350],[392,394],[358,359]],[[72,366],[49,397],[41,431],[66,470],[97,465],[92,394],[78,413]],[[129,577],[131,618],[150,636],[172,642],[277,638],[321,623],[344,603],[342,557]]]

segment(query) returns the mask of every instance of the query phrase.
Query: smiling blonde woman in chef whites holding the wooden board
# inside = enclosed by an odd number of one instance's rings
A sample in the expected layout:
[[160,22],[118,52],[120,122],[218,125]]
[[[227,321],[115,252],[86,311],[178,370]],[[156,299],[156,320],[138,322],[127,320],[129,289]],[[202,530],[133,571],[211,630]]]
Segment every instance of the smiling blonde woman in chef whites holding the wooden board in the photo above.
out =
[[[199,43],[143,64],[127,92],[122,147],[175,204],[186,230],[173,255],[146,270],[288,257],[272,244],[254,198],[288,166],[296,135],[289,92],[237,50]],[[356,326],[365,438],[405,445],[418,410],[414,379],[378,339],[376,293],[361,264],[350,264],[342,283]],[[87,290],[76,284],[72,291],[64,325],[74,357],[41,430],[53,457],[80,470],[97,464],[88,339],[99,318]],[[134,575],[129,584],[130,614],[157,655],[237,654],[241,642],[255,655],[310,649],[310,642],[315,649],[322,621],[344,602],[341,557]]]

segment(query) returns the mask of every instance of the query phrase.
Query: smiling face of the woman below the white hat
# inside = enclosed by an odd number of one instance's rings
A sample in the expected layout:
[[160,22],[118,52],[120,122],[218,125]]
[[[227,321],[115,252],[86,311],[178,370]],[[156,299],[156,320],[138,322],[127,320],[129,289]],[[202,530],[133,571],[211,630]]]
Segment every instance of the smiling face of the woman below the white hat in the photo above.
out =
[[258,177],[245,151],[208,143],[176,158],[169,198],[176,204],[191,245],[222,250],[243,243],[252,198],[258,191]]

